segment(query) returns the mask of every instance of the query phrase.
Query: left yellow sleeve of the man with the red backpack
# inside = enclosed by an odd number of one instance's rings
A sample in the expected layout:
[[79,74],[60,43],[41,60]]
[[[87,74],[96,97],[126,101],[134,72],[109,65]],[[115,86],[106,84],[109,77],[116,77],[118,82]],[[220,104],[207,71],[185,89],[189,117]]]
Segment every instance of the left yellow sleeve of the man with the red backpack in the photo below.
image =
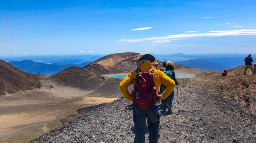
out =
[[126,99],[132,101],[131,93],[128,91],[128,86],[132,84],[131,73],[129,73],[119,85],[119,88]]

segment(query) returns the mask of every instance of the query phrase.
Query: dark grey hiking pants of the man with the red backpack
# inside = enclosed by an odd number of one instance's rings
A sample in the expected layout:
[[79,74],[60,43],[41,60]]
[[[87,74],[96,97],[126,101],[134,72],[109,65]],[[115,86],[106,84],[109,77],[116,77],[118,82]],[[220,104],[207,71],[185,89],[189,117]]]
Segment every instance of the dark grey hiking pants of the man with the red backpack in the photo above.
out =
[[158,109],[142,110],[136,106],[133,106],[133,123],[134,123],[134,143],[145,143],[145,134],[147,131],[146,119],[148,118],[148,139],[149,143],[157,143],[160,134],[160,117],[161,113]]

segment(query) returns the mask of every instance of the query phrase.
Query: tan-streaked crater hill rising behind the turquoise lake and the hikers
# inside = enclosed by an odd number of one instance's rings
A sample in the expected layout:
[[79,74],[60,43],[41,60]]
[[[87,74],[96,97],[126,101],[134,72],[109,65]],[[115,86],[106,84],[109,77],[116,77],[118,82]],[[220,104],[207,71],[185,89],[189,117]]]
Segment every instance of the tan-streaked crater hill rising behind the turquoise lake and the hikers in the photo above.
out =
[[[139,53],[133,52],[110,54],[84,66],[83,68],[85,68],[86,70],[95,75],[129,73],[137,67],[133,59],[135,59],[138,56]],[[156,60],[156,62],[158,62],[159,68],[162,68],[163,61]],[[221,75],[221,72],[218,71],[204,70],[199,68],[189,68],[176,63],[174,63],[173,66],[175,68],[175,73],[180,75],[191,75],[201,77],[211,75],[212,73],[217,73]]]

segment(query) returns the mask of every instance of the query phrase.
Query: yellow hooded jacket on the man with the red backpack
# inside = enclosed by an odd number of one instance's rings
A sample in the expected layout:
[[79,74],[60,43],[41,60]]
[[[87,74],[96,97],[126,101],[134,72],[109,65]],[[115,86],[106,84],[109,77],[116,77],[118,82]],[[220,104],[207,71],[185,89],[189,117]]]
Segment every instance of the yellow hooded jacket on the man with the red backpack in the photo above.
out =
[[[140,66],[140,70],[143,72],[147,72],[149,71],[151,68],[154,68],[154,66],[151,65],[151,62],[145,62],[144,64],[142,64]],[[159,88],[161,83],[166,85],[166,89],[164,90],[164,92],[162,93],[162,97],[166,98],[168,97],[172,90],[174,89],[175,86],[175,82],[174,80],[172,80],[168,75],[166,75],[164,72],[162,72],[161,70],[154,70],[153,72],[154,74],[154,79],[155,79],[155,85],[156,85],[156,93],[159,92]],[[131,84],[133,84],[133,89],[134,89],[134,83],[135,80],[133,80],[132,83],[132,79],[135,78],[135,76],[137,75],[136,71],[133,71],[131,73],[129,73],[124,80],[122,80],[122,82],[120,82],[120,90],[123,93],[124,97],[127,98],[129,101],[132,101],[132,97],[131,97],[131,93],[128,91],[127,87]]]

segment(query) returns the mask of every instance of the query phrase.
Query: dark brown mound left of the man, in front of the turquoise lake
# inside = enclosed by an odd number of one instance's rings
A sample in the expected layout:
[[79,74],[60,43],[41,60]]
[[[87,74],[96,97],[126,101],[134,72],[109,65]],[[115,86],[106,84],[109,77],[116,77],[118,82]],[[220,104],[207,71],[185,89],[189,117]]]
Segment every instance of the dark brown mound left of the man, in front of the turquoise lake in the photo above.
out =
[[78,66],[66,68],[50,76],[63,86],[76,87],[92,91],[92,97],[120,97],[119,83],[121,79],[101,75],[93,75],[86,68]]

